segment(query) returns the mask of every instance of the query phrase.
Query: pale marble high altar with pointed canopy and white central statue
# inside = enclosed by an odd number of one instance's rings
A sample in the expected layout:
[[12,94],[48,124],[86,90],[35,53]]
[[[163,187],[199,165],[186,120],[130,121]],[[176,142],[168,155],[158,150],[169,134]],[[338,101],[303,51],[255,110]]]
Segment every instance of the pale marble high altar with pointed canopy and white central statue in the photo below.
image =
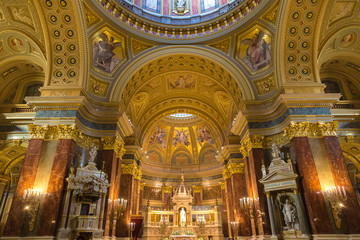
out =
[[172,192],[172,209],[147,206],[144,216],[144,240],[224,239],[218,206],[192,206],[192,191],[181,176]]

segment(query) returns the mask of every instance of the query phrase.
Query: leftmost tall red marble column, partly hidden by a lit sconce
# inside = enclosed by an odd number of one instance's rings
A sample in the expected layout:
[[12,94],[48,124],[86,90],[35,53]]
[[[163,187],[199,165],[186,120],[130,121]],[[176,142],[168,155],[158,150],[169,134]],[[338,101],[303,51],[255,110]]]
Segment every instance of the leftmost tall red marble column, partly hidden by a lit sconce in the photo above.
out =
[[36,171],[40,162],[44,140],[32,139],[26,150],[23,166],[16,187],[8,220],[5,225],[4,236],[20,236],[25,218],[23,194],[25,189],[33,188]]

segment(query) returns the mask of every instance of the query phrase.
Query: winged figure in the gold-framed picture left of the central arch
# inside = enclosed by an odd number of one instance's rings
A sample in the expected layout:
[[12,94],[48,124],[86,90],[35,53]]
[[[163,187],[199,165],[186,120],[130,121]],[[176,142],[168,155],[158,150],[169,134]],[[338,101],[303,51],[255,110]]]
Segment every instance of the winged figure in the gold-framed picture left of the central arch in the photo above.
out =
[[101,40],[94,43],[93,56],[94,65],[106,72],[111,72],[120,62],[114,53],[114,49],[121,47],[121,42],[114,42],[114,38],[105,33],[99,35]]

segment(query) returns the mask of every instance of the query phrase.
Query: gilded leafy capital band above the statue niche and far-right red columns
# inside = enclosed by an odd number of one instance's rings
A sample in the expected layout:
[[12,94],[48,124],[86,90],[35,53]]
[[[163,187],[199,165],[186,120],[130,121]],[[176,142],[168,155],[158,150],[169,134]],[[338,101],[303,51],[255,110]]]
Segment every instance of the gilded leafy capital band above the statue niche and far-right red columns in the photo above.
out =
[[291,122],[284,128],[284,136],[294,137],[325,137],[336,136],[339,123],[333,122]]

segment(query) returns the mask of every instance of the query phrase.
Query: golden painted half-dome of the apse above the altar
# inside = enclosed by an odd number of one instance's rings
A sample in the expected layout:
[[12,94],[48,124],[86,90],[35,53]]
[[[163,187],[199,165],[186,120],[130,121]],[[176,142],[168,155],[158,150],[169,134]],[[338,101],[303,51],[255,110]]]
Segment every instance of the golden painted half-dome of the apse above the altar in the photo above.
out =
[[217,162],[213,133],[202,121],[186,121],[179,126],[164,122],[149,132],[143,144],[146,164],[191,166]]

